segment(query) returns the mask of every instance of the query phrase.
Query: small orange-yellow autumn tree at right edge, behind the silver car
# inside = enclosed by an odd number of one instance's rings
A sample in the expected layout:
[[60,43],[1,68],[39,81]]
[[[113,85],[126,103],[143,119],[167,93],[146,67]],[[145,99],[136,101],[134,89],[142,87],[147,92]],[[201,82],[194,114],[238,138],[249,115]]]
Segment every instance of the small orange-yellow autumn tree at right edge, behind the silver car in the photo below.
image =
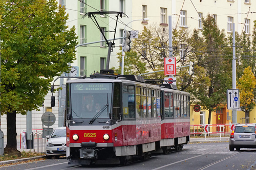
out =
[[[240,90],[240,108],[245,112],[245,118],[249,117],[249,112],[254,108],[254,94],[256,87],[256,78],[253,74],[251,67],[248,66],[243,71],[243,76],[239,79],[237,83],[237,88]],[[249,123],[246,119],[245,123]]]

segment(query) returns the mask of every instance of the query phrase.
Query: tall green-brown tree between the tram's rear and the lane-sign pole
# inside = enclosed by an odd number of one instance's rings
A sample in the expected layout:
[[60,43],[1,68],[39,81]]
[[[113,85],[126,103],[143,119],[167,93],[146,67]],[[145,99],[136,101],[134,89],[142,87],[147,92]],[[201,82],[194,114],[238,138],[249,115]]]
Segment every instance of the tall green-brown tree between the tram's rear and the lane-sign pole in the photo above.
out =
[[[201,37],[194,31],[192,37]],[[208,124],[211,113],[226,103],[226,90],[231,86],[232,48],[227,45],[224,30],[219,30],[214,17],[208,15],[203,18],[202,37],[203,43],[199,45],[202,52],[194,55],[196,66],[201,74],[205,71],[205,81],[191,83],[189,92],[195,96],[193,102],[200,104],[209,111]],[[196,48],[194,47],[196,50]],[[200,51],[201,51],[200,50]],[[199,78],[199,80],[202,78]]]

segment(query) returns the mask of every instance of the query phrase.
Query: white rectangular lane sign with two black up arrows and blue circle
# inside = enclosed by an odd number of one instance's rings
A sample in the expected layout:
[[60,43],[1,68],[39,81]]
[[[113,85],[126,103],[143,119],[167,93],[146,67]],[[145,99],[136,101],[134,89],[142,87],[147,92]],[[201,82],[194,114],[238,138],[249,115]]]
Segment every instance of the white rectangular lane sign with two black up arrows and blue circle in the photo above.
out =
[[227,109],[239,109],[239,89],[227,89]]

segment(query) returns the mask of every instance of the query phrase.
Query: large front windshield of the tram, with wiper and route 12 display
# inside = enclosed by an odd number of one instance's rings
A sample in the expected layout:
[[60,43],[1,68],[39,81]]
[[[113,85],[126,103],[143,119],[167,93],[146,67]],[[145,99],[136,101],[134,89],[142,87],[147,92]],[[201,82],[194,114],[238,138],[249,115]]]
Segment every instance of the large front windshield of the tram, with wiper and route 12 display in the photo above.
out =
[[73,118],[108,118],[111,111],[112,83],[73,83],[71,84],[71,114]]

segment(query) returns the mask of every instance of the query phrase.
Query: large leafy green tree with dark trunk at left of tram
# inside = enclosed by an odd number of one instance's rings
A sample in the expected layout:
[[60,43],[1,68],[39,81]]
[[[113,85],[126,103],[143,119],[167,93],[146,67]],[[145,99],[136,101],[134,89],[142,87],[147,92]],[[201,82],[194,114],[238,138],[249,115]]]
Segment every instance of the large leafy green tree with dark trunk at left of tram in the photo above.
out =
[[54,77],[70,69],[76,35],[55,0],[0,5],[1,114],[7,114],[5,152],[17,152],[16,113],[38,110]]

